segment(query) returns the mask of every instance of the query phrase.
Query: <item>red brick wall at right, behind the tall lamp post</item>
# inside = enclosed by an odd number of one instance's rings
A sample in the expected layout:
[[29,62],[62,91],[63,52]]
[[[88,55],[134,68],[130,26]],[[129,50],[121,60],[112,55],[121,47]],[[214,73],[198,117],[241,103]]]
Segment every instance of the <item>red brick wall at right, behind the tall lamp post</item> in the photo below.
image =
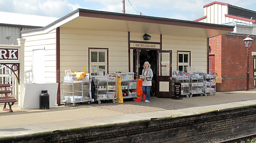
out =
[[[220,35],[209,39],[210,55],[215,55],[216,91],[246,90],[247,49],[244,39],[247,35]],[[251,37],[256,40],[255,37]],[[254,89],[253,56],[256,43],[249,49],[250,89]],[[245,53],[245,54],[244,54]]]

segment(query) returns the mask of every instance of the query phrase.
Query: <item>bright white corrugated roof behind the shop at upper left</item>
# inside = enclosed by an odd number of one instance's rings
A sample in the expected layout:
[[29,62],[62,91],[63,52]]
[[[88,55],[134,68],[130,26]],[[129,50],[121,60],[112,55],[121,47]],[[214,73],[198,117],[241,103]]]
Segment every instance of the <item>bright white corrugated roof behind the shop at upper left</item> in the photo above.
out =
[[0,11],[0,23],[1,24],[13,24],[13,25],[29,25],[45,27],[48,24],[58,20],[56,17],[45,17],[39,15],[1,12]]

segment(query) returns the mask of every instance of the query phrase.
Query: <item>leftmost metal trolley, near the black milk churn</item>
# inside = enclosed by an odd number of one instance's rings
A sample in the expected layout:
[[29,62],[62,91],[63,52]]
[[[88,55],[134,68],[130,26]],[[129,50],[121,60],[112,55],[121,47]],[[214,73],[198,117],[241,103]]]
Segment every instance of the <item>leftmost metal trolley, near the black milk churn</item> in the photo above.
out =
[[90,81],[61,81],[61,97],[64,105],[73,103],[73,107],[75,107],[76,103],[87,102],[90,104],[92,102],[89,93],[90,83]]

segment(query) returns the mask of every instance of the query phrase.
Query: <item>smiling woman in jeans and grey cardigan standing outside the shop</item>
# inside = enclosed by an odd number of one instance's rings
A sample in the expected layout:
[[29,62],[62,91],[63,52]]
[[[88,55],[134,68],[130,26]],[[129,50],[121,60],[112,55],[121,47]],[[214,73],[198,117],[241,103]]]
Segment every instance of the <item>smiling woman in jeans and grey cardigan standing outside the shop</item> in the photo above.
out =
[[143,65],[144,69],[142,70],[142,75],[144,75],[144,79],[142,82],[142,92],[146,95],[145,102],[149,102],[150,100],[150,87],[152,86],[152,77],[153,77],[153,71],[150,69],[149,62],[145,62]]

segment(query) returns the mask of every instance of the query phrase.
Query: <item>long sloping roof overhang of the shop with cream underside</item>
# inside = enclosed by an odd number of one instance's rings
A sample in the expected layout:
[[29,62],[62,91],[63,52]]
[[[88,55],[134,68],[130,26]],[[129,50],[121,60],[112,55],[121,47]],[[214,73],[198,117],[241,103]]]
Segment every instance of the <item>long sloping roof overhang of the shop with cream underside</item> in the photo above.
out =
[[77,9],[46,27],[23,31],[22,36],[47,32],[57,27],[203,38],[215,37],[234,30],[234,26],[228,25]]

